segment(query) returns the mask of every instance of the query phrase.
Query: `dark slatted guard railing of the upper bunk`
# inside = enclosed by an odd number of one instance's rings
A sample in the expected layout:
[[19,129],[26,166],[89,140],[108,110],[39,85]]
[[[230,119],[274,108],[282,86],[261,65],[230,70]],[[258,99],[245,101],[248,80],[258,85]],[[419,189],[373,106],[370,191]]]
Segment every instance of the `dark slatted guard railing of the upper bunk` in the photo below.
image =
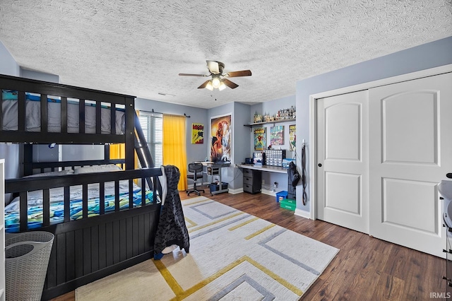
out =
[[[18,101],[18,129],[2,129],[4,112],[0,105],[0,141],[13,143],[127,143],[126,133],[133,134],[133,101],[134,96],[121,95],[117,93],[107,93],[87,88],[78,88],[59,83],[49,83],[45,81],[35,81],[28,78],[16,76],[0,75],[0,90],[14,90],[17,92]],[[35,93],[40,95],[40,131],[26,130],[26,108],[25,93]],[[47,102],[49,95],[57,97],[61,103],[61,131],[49,132],[47,122],[49,112]],[[68,132],[68,98],[78,101],[78,133]],[[94,102],[95,105],[95,133],[85,134],[85,102]],[[102,105],[110,108],[110,133],[101,133],[101,110]],[[116,110],[125,110],[126,132],[124,134],[116,132]],[[131,110],[131,112],[129,112]],[[133,136],[130,141],[133,141]],[[132,142],[133,144],[133,142]]]

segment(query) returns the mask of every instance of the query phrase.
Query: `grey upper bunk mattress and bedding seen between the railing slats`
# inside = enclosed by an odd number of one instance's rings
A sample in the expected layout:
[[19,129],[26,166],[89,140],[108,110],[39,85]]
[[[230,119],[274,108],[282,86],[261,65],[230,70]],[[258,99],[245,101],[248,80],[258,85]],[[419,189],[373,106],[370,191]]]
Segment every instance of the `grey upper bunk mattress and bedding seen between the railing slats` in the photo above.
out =
[[[13,90],[1,91],[2,105],[2,130],[18,130],[18,93]],[[40,95],[25,94],[25,131],[41,131],[41,98]],[[67,128],[68,133],[78,133],[79,112],[78,100],[68,99],[67,102]],[[61,132],[61,100],[59,98],[47,98],[47,131]],[[111,133],[111,114],[108,105],[101,108],[101,132]],[[115,120],[116,134],[124,134],[125,113],[124,109],[116,108]],[[85,102],[85,133],[96,132],[96,105],[89,100]]]

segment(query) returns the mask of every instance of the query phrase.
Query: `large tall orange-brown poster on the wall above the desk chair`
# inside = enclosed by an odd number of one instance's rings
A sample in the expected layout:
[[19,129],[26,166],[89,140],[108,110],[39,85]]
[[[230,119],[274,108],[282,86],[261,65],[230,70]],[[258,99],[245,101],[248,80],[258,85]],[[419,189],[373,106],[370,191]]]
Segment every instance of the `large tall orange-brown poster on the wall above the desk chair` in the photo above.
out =
[[231,163],[232,114],[210,118],[210,161]]

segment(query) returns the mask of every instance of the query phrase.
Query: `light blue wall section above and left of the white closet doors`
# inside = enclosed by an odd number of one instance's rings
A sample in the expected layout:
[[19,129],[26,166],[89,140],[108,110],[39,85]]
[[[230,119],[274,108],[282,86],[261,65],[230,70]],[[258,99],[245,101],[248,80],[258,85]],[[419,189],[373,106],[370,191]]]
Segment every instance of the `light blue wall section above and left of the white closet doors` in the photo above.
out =
[[[452,64],[452,37],[429,42],[424,45],[388,54],[359,64],[347,66],[319,76],[297,82],[297,157],[301,158],[302,139],[309,142],[309,95],[344,88],[359,83],[367,83],[405,73],[421,71],[437,66]],[[307,193],[309,200],[309,145],[307,144]],[[302,195],[302,187],[297,186],[297,196]],[[297,197],[299,199],[299,197]],[[307,206],[297,202],[297,208],[310,211]]]

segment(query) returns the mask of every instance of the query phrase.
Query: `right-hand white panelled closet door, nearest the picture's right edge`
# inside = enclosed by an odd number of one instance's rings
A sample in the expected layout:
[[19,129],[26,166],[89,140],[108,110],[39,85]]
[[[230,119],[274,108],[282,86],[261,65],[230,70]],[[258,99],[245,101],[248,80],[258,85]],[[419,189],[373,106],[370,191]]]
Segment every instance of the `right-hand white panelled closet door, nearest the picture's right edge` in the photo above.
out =
[[437,183],[452,171],[452,73],[369,90],[370,234],[443,256]]

